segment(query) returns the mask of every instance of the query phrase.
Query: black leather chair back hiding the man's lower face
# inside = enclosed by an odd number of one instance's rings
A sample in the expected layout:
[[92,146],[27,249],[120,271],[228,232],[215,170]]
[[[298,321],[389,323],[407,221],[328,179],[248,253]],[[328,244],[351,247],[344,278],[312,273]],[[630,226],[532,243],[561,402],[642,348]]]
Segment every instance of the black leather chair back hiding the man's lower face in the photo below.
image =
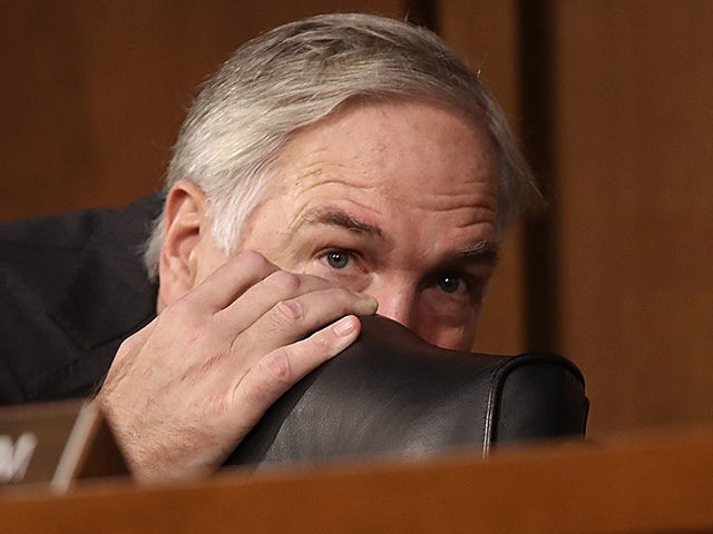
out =
[[555,355],[488,356],[427,344],[383,317],[282,396],[226,464],[315,462],[584,435],[584,378]]

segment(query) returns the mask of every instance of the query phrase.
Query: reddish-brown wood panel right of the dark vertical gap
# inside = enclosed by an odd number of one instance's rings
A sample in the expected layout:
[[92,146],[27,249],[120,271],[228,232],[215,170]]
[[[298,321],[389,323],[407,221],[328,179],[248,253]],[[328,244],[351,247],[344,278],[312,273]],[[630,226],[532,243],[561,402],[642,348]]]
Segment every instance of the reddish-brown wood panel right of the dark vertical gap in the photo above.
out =
[[595,428],[713,421],[713,2],[556,3],[559,349]]

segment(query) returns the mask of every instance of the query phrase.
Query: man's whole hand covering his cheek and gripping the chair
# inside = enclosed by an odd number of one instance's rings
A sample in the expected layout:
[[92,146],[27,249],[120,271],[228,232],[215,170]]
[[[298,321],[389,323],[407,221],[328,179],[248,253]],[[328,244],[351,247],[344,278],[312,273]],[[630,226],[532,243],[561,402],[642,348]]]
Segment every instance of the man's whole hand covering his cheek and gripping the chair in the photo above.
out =
[[137,478],[205,475],[375,309],[245,251],[124,342],[97,400]]

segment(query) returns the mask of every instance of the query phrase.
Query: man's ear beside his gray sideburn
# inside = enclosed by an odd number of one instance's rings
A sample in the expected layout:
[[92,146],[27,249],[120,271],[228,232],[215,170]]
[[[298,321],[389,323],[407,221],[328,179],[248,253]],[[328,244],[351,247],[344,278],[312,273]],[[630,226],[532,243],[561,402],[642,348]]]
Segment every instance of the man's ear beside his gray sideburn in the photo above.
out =
[[158,264],[159,309],[183,297],[196,284],[202,241],[211,239],[203,190],[178,180],[164,207],[164,241]]

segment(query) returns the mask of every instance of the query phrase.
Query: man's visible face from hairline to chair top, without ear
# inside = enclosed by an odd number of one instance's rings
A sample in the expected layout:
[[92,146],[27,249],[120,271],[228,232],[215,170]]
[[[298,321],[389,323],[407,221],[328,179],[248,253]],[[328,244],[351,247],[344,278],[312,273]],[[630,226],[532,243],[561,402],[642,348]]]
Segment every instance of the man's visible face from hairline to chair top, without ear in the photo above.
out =
[[296,135],[275,172],[240,249],[372,295],[436,345],[471,347],[499,241],[480,131],[432,103],[352,103]]

